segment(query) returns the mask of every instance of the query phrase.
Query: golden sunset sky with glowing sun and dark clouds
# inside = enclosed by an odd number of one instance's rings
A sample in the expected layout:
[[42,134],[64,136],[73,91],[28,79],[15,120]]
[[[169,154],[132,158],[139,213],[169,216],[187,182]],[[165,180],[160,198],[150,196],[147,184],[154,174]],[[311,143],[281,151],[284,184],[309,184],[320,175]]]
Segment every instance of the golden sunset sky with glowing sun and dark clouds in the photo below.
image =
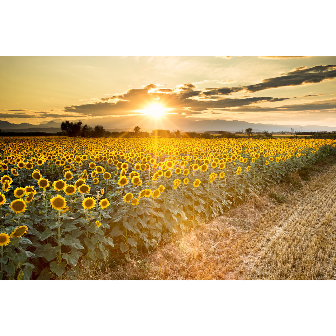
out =
[[0,120],[336,127],[336,56],[1,56]]

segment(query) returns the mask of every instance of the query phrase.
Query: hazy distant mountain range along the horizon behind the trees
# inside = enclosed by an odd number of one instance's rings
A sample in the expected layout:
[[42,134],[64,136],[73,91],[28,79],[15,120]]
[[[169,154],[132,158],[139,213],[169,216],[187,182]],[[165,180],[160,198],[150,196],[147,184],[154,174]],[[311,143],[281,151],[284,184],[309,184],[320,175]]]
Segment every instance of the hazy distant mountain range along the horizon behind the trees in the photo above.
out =
[[[95,126],[97,124],[97,120],[83,120],[83,124],[89,124],[89,126]],[[40,124],[12,124],[8,121],[0,120],[0,129],[2,131],[16,131],[16,132],[58,132],[60,131],[61,123],[57,123],[55,121],[42,122]],[[109,126],[113,128],[109,128]],[[142,126],[139,124],[139,126]],[[124,131],[126,128],[115,128],[115,125],[104,125],[105,129],[113,130],[113,131]],[[133,126],[134,127],[134,126]],[[247,128],[252,128],[253,132],[262,132],[267,130],[269,132],[280,132],[280,131],[290,131],[291,128],[294,131],[302,131],[302,132],[317,132],[317,131],[336,131],[336,127],[330,126],[319,126],[319,125],[274,125],[274,124],[262,124],[262,123],[249,123],[241,120],[196,120],[196,121],[188,121],[179,126],[182,131],[194,131],[194,132],[204,132],[204,131],[230,131],[236,132],[239,130],[244,130]],[[164,128],[164,127],[163,127]],[[153,129],[146,129],[145,125],[141,127],[141,131],[149,131],[151,132]]]

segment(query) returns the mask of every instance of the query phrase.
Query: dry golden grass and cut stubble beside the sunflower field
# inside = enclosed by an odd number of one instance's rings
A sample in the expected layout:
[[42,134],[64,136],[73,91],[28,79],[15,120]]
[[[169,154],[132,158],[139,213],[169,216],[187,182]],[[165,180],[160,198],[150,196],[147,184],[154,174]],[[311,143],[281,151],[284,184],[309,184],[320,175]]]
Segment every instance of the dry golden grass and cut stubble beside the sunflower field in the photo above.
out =
[[[307,182],[254,194],[224,216],[202,223],[151,255],[76,279],[336,279],[336,165]],[[301,185],[293,192],[293,185]],[[269,192],[281,194],[278,204]]]

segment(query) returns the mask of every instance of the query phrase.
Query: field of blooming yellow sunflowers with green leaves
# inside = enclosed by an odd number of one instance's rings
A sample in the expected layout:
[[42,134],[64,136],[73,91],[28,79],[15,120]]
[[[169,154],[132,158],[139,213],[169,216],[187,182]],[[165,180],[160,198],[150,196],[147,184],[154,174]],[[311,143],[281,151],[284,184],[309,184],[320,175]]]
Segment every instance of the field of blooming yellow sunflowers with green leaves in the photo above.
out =
[[0,279],[151,252],[336,154],[328,139],[0,138]]

